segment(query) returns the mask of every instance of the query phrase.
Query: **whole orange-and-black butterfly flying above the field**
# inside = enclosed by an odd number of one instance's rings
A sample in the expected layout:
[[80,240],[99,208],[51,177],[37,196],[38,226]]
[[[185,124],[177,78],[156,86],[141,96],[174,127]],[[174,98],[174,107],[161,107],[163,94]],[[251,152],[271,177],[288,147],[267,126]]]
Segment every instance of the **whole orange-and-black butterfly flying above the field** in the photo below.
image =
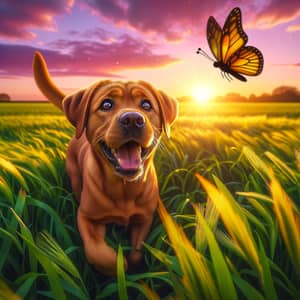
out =
[[[242,15],[239,7],[234,8],[228,15],[223,29],[212,16],[207,21],[207,41],[215,60],[198,49],[202,54],[214,61],[214,67],[221,69],[222,77],[231,80],[233,77],[247,81],[247,76],[259,75],[264,66],[262,53],[253,46],[245,46],[248,36],[242,27]],[[242,75],[243,74],[243,75]]]

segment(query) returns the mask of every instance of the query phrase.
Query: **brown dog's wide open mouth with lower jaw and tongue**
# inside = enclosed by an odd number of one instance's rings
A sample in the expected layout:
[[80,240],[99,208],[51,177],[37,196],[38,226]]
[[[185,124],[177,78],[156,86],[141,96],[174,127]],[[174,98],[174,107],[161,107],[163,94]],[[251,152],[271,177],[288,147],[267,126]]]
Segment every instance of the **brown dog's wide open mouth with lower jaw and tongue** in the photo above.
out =
[[99,145],[115,170],[127,177],[136,176],[143,171],[143,161],[153,148],[143,148],[135,141],[129,141],[117,149],[109,148],[104,141],[100,141]]

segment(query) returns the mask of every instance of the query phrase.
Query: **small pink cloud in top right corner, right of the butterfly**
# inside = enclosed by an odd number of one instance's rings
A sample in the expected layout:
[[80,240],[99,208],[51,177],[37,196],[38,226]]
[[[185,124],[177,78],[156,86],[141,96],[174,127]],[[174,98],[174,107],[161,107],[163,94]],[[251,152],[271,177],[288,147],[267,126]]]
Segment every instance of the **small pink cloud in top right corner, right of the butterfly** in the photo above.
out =
[[293,21],[299,16],[299,0],[270,0],[256,15],[255,23],[261,28],[271,28]]

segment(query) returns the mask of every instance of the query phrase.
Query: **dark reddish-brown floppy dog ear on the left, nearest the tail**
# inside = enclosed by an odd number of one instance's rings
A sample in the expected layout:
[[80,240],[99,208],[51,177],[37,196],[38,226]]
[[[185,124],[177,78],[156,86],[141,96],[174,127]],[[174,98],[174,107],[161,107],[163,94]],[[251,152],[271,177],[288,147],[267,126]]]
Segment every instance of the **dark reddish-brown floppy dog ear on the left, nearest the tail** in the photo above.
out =
[[81,137],[87,124],[88,111],[94,88],[80,90],[63,99],[63,110],[73,126],[76,127],[76,138]]

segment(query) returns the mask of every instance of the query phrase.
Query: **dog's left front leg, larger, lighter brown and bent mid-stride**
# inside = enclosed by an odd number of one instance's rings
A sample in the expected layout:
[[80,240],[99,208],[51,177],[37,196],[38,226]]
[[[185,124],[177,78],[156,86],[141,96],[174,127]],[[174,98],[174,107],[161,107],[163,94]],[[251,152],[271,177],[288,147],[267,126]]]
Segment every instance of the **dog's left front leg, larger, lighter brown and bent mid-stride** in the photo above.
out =
[[116,275],[117,254],[104,240],[105,224],[84,216],[80,211],[80,207],[77,214],[77,224],[88,262],[105,275]]

